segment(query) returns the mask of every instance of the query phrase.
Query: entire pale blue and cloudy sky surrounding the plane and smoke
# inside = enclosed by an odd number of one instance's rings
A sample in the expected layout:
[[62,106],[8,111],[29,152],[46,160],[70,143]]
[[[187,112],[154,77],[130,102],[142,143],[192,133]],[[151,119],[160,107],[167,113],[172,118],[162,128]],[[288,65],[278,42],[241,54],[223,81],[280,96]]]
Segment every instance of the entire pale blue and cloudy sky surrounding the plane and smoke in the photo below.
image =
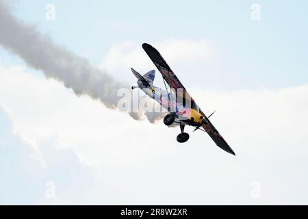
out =
[[[47,3],[55,21],[45,18]],[[261,21],[251,19],[253,3]],[[218,110],[211,121],[237,156],[190,129],[179,146],[178,128],[77,96],[1,46],[1,204],[307,204],[307,1],[9,5],[129,85],[130,66],[154,68],[141,47],[153,44],[203,111]],[[55,198],[45,195],[49,181]]]

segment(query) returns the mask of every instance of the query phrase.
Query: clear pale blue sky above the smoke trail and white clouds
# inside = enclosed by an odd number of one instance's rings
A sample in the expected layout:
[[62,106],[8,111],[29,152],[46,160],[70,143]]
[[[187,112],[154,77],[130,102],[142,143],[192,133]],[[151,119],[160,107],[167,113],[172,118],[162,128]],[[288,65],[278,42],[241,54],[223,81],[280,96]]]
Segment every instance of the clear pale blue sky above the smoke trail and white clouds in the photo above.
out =
[[[55,21],[45,19],[47,3],[55,4]],[[251,20],[252,3],[255,1],[15,1],[12,8],[23,21],[36,25],[57,44],[86,55],[93,64],[118,42],[205,38],[223,51],[220,65],[224,71],[219,76],[222,81],[230,75],[240,80],[235,88],[305,84],[308,3],[259,1],[261,21]]]

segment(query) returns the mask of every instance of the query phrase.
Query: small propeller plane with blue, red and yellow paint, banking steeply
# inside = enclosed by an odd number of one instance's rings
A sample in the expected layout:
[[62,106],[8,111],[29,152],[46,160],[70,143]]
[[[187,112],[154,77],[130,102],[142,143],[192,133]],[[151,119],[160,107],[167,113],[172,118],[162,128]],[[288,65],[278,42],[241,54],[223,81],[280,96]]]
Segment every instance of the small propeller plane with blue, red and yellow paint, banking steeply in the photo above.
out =
[[131,89],[140,88],[145,94],[155,99],[162,107],[168,110],[169,113],[164,117],[164,124],[170,126],[173,123],[179,123],[181,133],[177,136],[178,142],[187,142],[190,138],[189,134],[184,132],[185,125],[189,125],[195,127],[194,131],[205,131],[220,149],[235,155],[229,144],[209,121],[209,117],[214,112],[209,116],[205,116],[205,113],[198,107],[157,49],[147,43],[142,44],[142,48],[162,74],[166,90],[153,86],[155,70],[150,70],[142,76],[133,68],[131,68],[131,71],[138,79],[138,86],[132,86]]

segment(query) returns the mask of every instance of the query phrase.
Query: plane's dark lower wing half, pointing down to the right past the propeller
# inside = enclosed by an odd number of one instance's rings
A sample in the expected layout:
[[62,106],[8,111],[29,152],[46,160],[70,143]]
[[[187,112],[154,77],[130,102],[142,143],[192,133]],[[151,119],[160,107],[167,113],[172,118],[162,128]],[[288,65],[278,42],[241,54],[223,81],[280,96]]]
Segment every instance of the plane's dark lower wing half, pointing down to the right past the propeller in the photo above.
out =
[[[207,118],[205,114],[200,110],[200,113],[203,115],[204,118]],[[227,151],[228,153],[231,153],[232,155],[235,155],[234,151],[231,149],[231,146],[220,136],[220,133],[217,131],[217,129],[214,127],[213,124],[209,121],[207,118],[207,125],[202,125],[203,129],[209,134],[209,137],[211,137],[212,140],[216,143],[217,146],[220,147],[220,149]]]

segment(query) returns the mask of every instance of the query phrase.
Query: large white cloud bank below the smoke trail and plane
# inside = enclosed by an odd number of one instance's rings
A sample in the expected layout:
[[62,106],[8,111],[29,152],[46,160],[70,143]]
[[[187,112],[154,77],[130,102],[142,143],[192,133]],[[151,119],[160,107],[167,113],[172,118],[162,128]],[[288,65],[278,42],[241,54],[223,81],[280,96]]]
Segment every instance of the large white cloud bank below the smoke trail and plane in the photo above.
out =
[[[21,91],[27,107],[21,108]],[[38,133],[53,131],[59,142],[98,164],[95,185],[86,182],[87,203],[307,203],[307,86],[190,92],[205,112],[217,110],[211,121],[236,157],[219,149],[206,133],[191,133],[190,127],[190,140],[178,144],[178,127],[137,122],[102,109],[97,101],[77,98],[57,81],[16,69],[3,70],[0,79],[0,101],[12,112],[17,133],[40,145]],[[83,172],[75,158],[65,164],[56,157],[62,155],[51,156],[49,164]],[[66,178],[73,179],[79,178]],[[261,185],[260,198],[251,197],[253,182]],[[67,198],[68,203],[83,197],[75,188],[76,196]]]

